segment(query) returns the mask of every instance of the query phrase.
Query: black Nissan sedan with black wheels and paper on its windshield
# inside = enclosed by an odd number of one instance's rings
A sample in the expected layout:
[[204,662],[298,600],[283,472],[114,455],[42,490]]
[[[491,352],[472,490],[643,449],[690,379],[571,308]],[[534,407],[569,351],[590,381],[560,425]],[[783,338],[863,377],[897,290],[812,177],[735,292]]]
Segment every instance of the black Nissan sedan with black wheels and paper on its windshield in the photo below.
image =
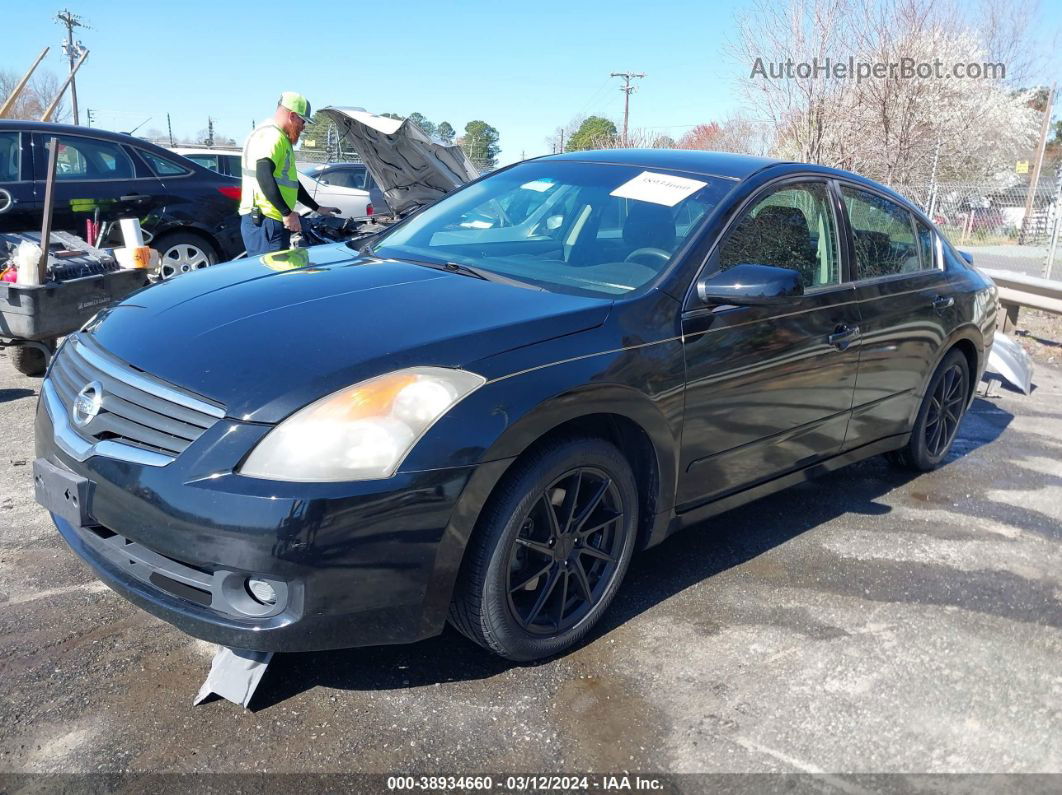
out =
[[208,641],[448,620],[530,660],[682,528],[870,455],[940,465],[996,303],[854,174],[546,157],[102,312],[44,382],[37,499],[107,585]]

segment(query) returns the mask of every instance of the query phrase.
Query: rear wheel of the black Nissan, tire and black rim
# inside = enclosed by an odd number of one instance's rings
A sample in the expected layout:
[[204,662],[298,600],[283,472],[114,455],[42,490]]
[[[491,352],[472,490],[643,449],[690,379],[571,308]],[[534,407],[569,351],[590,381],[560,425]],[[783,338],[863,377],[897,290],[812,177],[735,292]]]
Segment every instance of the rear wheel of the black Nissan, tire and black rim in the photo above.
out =
[[906,469],[928,472],[947,457],[970,400],[970,364],[952,349],[937,367],[919,409],[911,438],[889,461]]

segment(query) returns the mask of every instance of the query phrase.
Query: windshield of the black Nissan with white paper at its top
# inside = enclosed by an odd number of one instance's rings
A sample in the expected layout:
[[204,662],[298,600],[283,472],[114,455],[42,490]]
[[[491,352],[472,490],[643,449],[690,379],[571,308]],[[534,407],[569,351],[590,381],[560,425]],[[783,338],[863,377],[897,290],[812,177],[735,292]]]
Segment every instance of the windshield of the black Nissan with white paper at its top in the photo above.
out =
[[374,254],[620,295],[657,276],[733,183],[612,163],[521,163],[441,200]]

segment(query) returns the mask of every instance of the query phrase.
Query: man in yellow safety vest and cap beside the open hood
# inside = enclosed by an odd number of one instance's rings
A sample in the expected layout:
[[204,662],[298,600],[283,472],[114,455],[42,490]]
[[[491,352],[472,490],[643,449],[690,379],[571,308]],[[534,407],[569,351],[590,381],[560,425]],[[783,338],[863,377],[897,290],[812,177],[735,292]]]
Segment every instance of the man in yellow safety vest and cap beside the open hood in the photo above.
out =
[[249,257],[291,247],[291,234],[302,230],[295,202],[322,214],[339,212],[321,207],[298,182],[292,146],[309,121],[306,98],[285,91],[272,121],[255,127],[243,144],[240,232]]

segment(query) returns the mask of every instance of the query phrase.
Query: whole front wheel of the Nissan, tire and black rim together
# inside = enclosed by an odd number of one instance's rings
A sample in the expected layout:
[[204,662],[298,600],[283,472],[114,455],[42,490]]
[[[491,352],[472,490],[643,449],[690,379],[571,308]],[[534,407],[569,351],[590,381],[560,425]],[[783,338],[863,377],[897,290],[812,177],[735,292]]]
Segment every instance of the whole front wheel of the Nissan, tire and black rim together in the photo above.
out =
[[609,608],[634,552],[638,490],[597,438],[551,442],[514,466],[480,515],[449,618],[523,662],[570,649]]

